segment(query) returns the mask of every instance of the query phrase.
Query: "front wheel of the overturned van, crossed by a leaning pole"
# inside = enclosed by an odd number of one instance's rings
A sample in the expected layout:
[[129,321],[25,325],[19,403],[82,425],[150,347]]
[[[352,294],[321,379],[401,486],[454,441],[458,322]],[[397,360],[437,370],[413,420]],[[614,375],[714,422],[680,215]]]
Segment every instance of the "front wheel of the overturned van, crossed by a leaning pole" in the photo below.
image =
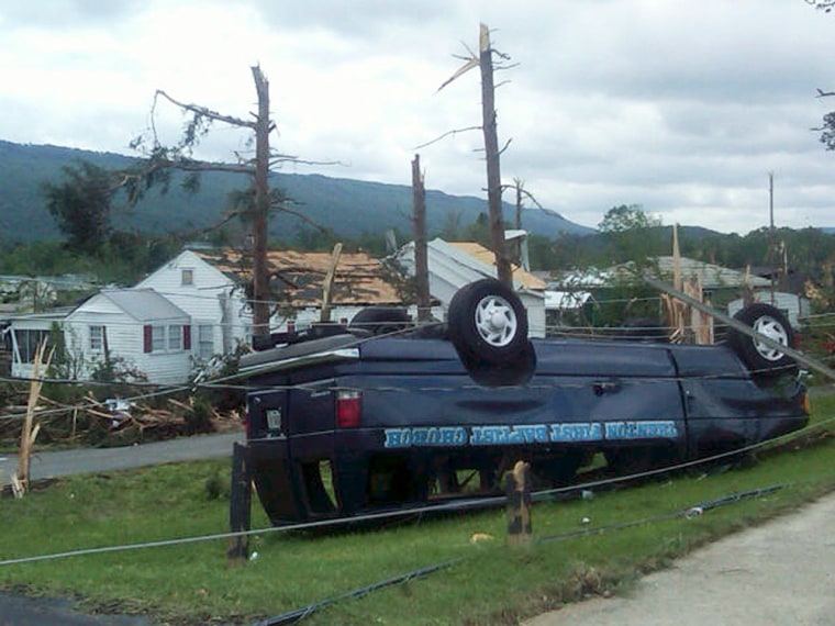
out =
[[[746,306],[734,320],[783,346],[794,346],[794,329],[789,320],[770,304],[758,302]],[[790,356],[735,328],[728,329],[727,343],[755,376],[771,378],[798,372],[798,364]]]

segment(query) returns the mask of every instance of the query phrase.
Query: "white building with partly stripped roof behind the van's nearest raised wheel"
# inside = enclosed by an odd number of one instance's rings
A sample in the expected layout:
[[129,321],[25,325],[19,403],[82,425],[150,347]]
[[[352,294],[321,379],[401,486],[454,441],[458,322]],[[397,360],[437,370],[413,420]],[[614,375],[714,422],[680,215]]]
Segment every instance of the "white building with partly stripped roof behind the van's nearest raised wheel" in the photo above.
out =
[[[496,278],[493,253],[472,242],[445,242],[435,238],[427,244],[430,293],[441,302],[443,312],[461,287],[482,278]],[[414,276],[414,242],[403,246],[397,260]],[[527,309],[528,335],[545,336],[545,283],[521,268],[513,270],[513,289]],[[443,317],[442,315],[438,315]]]

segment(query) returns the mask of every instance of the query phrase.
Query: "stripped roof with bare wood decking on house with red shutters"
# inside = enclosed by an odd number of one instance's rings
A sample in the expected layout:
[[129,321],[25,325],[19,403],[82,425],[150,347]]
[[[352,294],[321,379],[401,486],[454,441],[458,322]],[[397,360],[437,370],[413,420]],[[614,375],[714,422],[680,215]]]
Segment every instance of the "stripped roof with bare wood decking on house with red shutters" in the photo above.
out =
[[[242,284],[252,282],[252,254],[224,248],[192,250],[205,262]],[[331,253],[267,250],[272,297],[292,308],[321,306]],[[368,253],[342,253],[336,265],[332,305],[400,304],[391,271]]]

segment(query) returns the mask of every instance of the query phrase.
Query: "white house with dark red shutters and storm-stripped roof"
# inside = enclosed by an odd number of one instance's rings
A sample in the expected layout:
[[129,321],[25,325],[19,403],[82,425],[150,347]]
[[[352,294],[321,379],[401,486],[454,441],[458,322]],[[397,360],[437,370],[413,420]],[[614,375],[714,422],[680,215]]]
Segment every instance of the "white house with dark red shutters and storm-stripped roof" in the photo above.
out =
[[[330,253],[270,250],[271,331],[302,328],[321,317]],[[64,333],[74,378],[89,379],[120,362],[156,383],[182,383],[196,366],[252,340],[247,303],[252,260],[237,250],[185,250],[131,289],[102,290],[75,310],[8,317],[12,376],[29,377],[37,344]],[[331,290],[331,318],[349,322],[366,306],[400,298],[380,262],[366,253],[343,254]]]

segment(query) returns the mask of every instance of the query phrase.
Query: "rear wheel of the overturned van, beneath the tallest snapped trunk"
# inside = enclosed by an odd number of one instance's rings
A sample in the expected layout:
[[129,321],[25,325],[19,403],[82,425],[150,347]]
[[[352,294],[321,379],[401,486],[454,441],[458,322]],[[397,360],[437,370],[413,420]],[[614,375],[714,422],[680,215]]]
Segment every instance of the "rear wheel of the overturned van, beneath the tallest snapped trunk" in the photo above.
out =
[[522,301],[492,278],[471,282],[455,293],[447,325],[465,365],[506,365],[528,345],[527,312]]

